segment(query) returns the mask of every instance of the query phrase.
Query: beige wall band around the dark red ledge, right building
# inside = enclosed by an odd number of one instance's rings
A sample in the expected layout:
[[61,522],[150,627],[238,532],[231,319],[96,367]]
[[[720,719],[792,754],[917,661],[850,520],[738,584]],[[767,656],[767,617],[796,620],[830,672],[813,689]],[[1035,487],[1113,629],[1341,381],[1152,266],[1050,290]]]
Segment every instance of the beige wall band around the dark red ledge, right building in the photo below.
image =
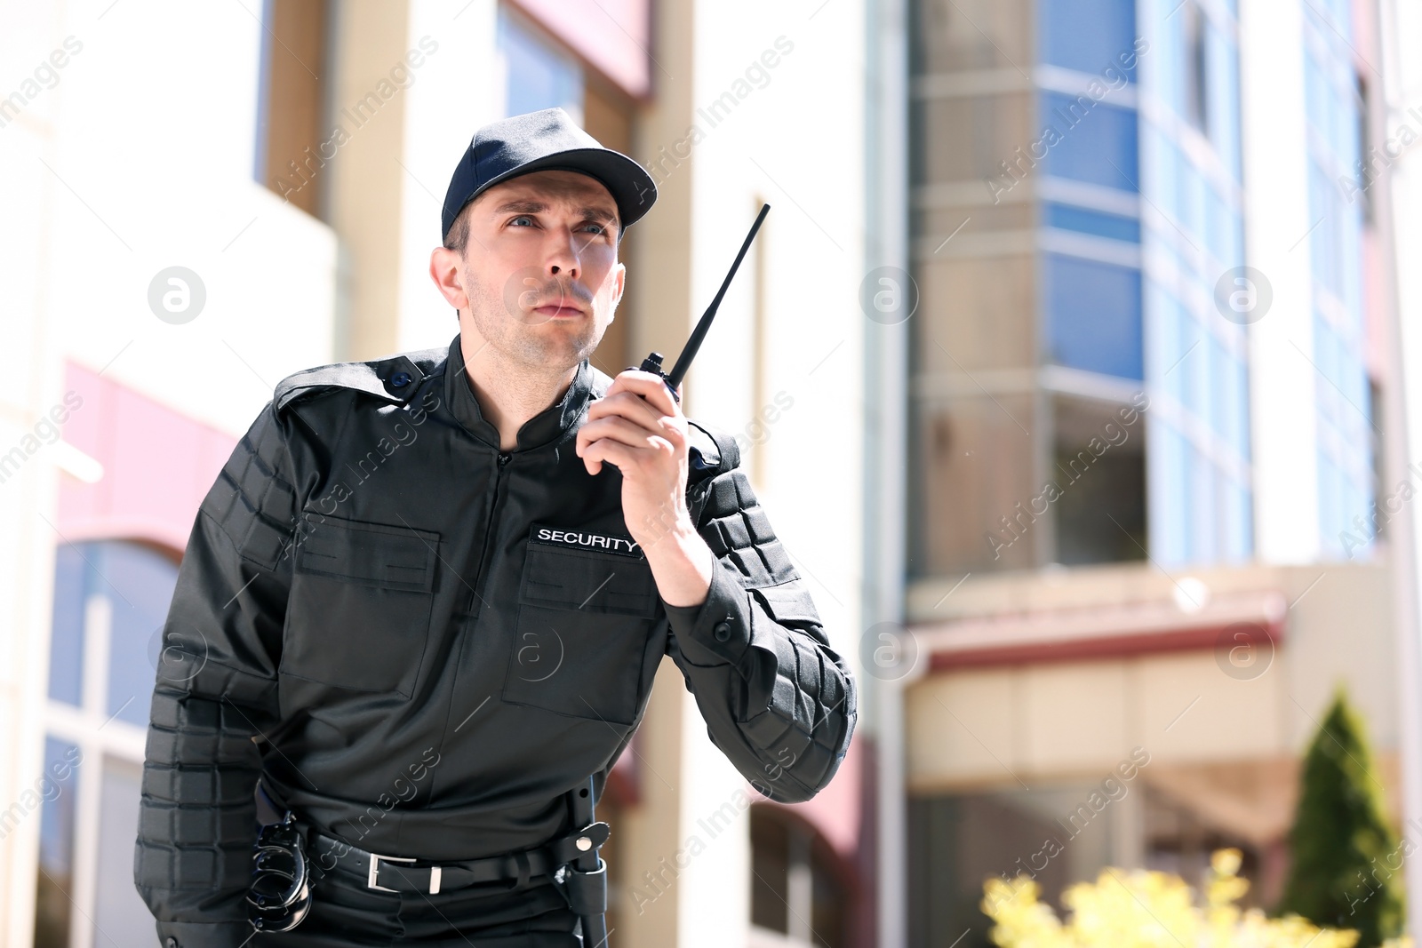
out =
[[[1078,570],[1058,584],[994,577],[940,611],[971,618],[1122,601],[1172,601],[1149,567]],[[1385,564],[1197,573],[1214,596],[1278,591],[1291,605],[1273,664],[1224,674],[1213,650],[931,674],[904,692],[910,792],[1105,773],[1135,746],[1152,763],[1291,758],[1344,684],[1375,748],[1396,746],[1392,613]],[[917,601],[931,590],[919,590]],[[941,593],[940,593],[941,596]],[[930,610],[931,611],[931,610]]]

